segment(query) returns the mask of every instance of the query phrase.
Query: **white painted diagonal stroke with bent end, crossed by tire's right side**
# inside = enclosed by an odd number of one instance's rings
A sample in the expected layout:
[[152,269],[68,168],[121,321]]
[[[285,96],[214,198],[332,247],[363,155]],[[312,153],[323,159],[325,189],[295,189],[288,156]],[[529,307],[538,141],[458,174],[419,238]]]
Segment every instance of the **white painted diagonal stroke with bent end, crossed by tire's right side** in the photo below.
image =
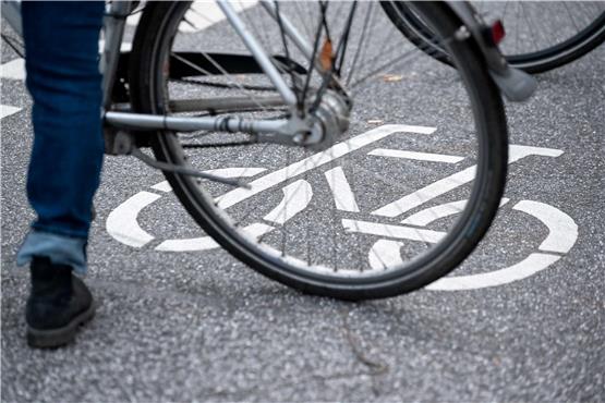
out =
[[[516,162],[528,156],[558,157],[561,154],[561,150],[553,148],[511,145],[509,147],[508,163]],[[472,166],[437,182],[433,182],[416,192],[380,207],[373,211],[372,215],[384,217],[400,216],[435,197],[472,182],[475,179],[475,170],[476,166]]]

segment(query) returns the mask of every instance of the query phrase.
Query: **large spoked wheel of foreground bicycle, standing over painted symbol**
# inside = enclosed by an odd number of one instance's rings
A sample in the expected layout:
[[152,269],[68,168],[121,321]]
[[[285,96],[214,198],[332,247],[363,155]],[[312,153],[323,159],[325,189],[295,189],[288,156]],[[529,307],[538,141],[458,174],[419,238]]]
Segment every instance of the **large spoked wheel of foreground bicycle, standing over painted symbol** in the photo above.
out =
[[[249,52],[225,20],[207,26],[199,15],[213,13],[203,7],[147,5],[133,44],[135,109],[258,119],[290,113],[262,72],[229,64]],[[231,188],[166,173],[195,221],[241,261],[307,293],[379,298],[447,274],[483,237],[506,178],[501,99],[474,42],[455,39],[460,22],[447,4],[414,7],[434,25],[457,72],[402,41],[390,23],[397,13],[375,2],[282,2],[277,19],[263,7],[240,10],[301,97],[320,93],[325,75],[310,72],[346,37],[331,74],[351,97],[349,130],[320,152],[258,144],[245,134],[155,134],[159,160],[249,182],[250,190]],[[313,59],[282,35],[286,21],[316,44]],[[176,62],[187,66],[186,76]],[[218,100],[240,107],[208,107]],[[457,202],[449,205],[457,215],[436,208],[446,200]],[[431,227],[408,223],[411,215],[415,222],[419,215],[432,217]],[[398,242],[397,256],[384,255],[386,242]]]

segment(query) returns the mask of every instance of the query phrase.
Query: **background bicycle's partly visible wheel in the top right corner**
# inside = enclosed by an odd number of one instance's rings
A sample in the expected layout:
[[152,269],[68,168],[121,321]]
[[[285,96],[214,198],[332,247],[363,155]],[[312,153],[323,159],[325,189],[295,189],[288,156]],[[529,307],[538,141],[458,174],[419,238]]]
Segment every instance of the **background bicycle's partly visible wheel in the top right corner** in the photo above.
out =
[[[603,2],[473,3],[481,14],[497,16],[507,27],[513,27],[512,33],[498,45],[510,65],[528,73],[544,73],[571,63],[605,41]],[[399,30],[436,60],[451,64],[449,56],[439,47],[422,19],[406,4],[400,4],[400,11]],[[507,15],[513,23],[507,24]],[[504,30],[499,29],[496,35],[504,35]]]

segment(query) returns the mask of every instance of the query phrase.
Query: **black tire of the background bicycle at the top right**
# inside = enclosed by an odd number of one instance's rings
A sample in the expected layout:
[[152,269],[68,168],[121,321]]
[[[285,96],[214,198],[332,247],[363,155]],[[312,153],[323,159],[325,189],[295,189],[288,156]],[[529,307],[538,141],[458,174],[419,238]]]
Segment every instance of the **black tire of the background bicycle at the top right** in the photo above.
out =
[[[452,65],[451,59],[444,49],[435,46],[433,33],[413,11],[404,4],[400,5],[401,20],[399,30],[415,46],[435,60]],[[605,11],[567,40],[533,52],[522,54],[505,54],[509,64],[531,74],[545,73],[571,63],[589,53],[605,41]]]

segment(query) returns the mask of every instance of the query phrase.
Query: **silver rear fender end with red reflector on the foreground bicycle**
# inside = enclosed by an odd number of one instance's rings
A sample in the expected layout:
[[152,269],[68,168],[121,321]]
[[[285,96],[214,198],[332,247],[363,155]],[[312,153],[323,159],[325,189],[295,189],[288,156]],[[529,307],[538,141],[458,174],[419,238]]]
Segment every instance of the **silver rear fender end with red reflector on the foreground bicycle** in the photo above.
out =
[[479,45],[487,63],[489,75],[505,97],[515,102],[529,99],[537,88],[536,80],[519,69],[511,68],[498,46],[486,40],[484,33],[487,25],[470,3],[465,1],[448,1],[447,3]]

